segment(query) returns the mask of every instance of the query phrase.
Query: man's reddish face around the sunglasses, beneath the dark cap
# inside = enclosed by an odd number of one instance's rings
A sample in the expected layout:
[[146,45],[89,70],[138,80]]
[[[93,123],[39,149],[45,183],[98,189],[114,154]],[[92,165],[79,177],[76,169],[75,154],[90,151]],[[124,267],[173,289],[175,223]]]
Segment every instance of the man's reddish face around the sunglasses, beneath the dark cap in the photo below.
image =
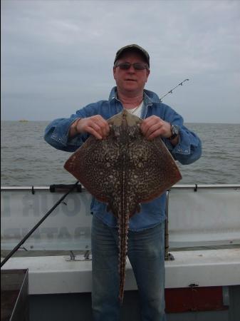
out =
[[[118,63],[147,63],[144,58],[137,52],[128,51],[122,54]],[[113,76],[115,78],[117,88],[121,93],[125,93],[131,96],[138,96],[142,93],[147,78],[150,74],[149,69],[135,70],[133,66],[130,66],[127,70],[122,70],[120,67],[113,67]]]

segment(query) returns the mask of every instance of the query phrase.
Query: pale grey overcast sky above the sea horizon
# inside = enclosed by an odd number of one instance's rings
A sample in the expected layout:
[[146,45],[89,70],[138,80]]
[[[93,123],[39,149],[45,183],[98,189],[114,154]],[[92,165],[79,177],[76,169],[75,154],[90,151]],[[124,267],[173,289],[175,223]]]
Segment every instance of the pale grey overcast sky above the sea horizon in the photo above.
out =
[[1,119],[51,121],[108,99],[115,53],[189,123],[240,123],[240,1],[1,1]]

